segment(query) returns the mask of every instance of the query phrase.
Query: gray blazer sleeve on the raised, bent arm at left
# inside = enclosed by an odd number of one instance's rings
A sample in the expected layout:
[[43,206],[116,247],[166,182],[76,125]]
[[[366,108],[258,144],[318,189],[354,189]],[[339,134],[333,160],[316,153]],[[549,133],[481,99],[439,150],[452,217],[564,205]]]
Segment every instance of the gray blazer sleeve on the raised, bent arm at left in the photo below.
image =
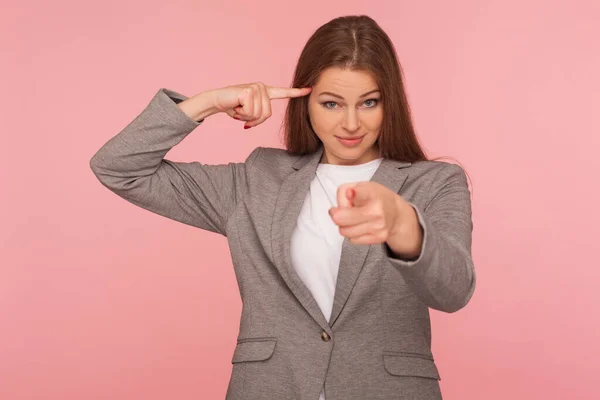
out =
[[226,236],[227,220],[244,196],[247,171],[261,148],[238,163],[165,159],[172,147],[203,122],[189,118],[177,106],[186,98],[161,88],[132,122],[94,154],[90,168],[104,186],[125,200]]

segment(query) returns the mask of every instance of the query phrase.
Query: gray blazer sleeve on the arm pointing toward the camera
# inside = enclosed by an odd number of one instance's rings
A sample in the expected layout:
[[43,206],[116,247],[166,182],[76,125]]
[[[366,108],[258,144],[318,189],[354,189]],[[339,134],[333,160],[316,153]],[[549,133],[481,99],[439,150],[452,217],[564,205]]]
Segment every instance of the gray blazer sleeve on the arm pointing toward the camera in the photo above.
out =
[[425,304],[450,313],[463,308],[475,290],[471,197],[463,169],[447,163],[429,194],[431,200],[424,209],[409,202],[423,229],[419,257],[395,258],[387,245],[386,252],[388,261]]

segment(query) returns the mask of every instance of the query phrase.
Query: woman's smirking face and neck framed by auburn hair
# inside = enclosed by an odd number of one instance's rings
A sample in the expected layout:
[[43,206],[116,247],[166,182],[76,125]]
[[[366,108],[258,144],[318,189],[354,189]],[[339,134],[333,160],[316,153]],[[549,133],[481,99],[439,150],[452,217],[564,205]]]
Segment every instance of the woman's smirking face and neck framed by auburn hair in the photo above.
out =
[[379,156],[375,141],[383,121],[383,106],[371,73],[337,67],[324,70],[312,86],[308,115],[323,142],[321,162],[357,165]]

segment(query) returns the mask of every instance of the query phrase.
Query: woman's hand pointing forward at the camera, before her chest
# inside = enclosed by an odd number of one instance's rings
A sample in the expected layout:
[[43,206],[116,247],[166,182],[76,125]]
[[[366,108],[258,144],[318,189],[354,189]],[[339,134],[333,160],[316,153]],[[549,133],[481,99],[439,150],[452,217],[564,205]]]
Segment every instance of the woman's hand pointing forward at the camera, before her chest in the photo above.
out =
[[353,244],[386,243],[398,258],[417,258],[423,230],[413,207],[377,182],[343,184],[329,210],[340,234]]

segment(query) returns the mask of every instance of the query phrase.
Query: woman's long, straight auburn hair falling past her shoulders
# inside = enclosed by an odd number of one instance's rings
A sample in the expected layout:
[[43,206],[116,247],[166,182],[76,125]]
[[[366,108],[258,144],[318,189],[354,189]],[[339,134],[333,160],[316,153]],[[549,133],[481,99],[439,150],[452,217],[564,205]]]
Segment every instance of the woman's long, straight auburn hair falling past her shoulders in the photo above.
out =
[[[372,18],[343,16],[319,27],[300,54],[292,87],[313,86],[321,72],[330,67],[364,70],[375,76],[383,106],[377,139],[380,157],[408,162],[428,160],[415,135],[396,50]],[[289,99],[283,132],[289,153],[317,150],[321,140],[310,124],[308,96]]]

